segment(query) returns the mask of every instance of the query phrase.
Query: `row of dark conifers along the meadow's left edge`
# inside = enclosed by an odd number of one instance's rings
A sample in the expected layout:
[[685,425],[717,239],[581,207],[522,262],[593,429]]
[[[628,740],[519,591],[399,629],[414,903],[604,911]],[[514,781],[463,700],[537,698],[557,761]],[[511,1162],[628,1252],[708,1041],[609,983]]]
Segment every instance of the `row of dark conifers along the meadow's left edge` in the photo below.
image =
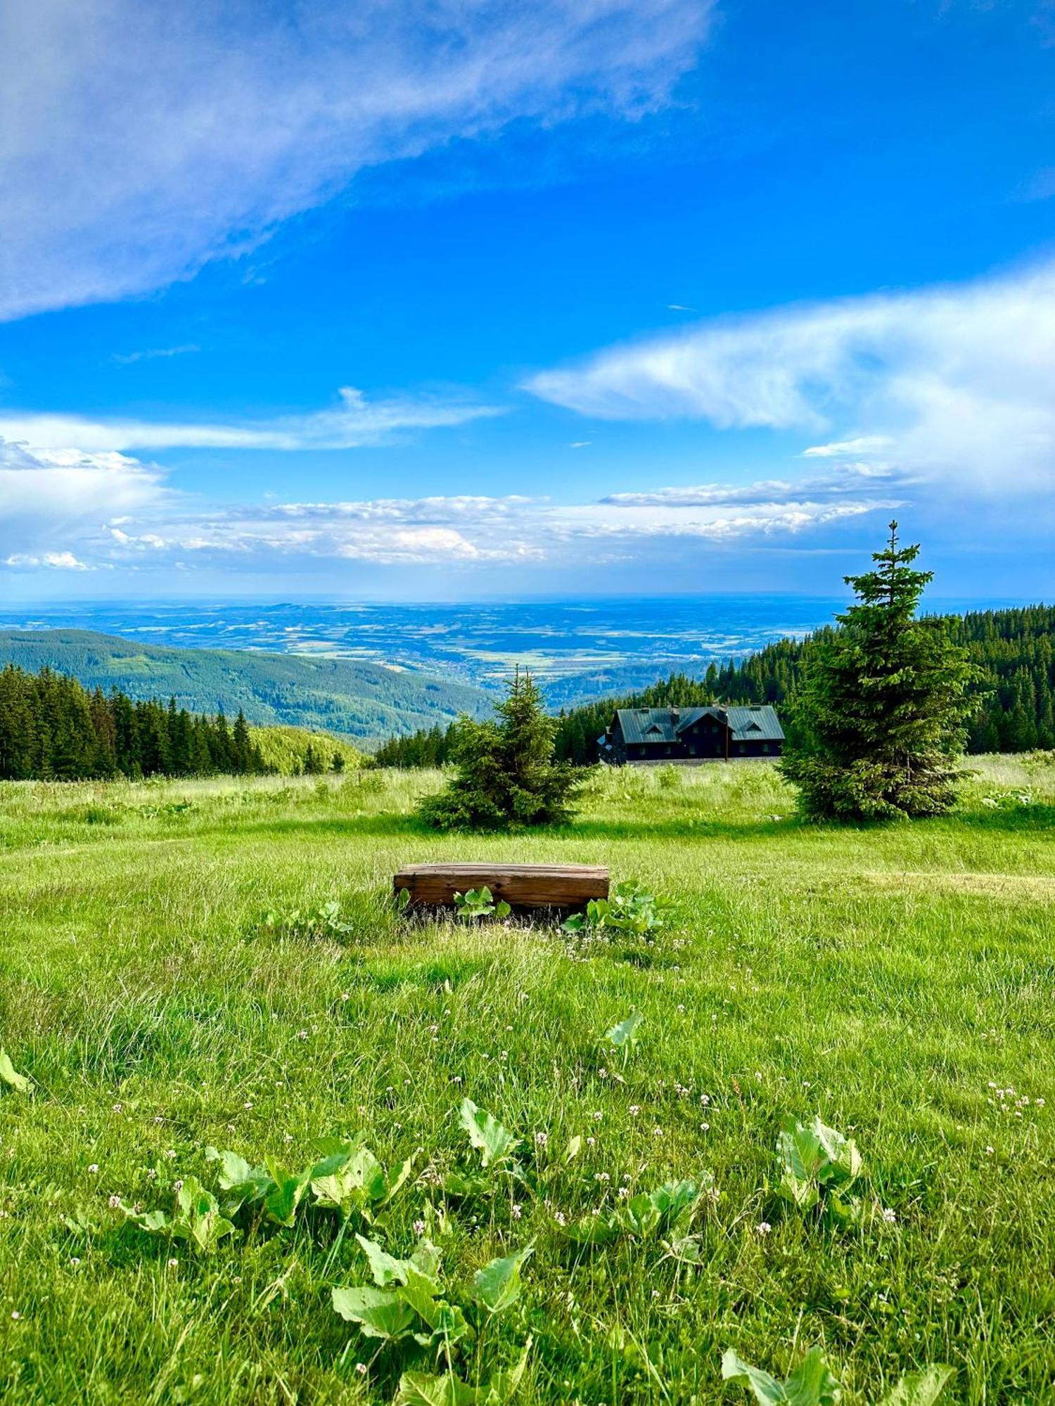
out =
[[[319,766],[319,770],[324,768]],[[0,779],[260,775],[270,770],[243,714],[234,724],[120,689],[89,692],[52,669],[0,669]]]

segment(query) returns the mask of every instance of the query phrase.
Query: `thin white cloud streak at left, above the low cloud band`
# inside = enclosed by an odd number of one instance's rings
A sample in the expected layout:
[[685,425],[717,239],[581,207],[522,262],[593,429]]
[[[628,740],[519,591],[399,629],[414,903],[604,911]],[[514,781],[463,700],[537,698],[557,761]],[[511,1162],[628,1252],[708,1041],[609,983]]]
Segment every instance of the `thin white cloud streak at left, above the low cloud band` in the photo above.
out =
[[464,425],[502,415],[498,406],[466,401],[399,396],[367,401],[354,387],[342,387],[332,409],[243,423],[165,423],[160,420],[89,420],[77,415],[0,413],[0,436],[35,449],[158,450],[196,449],[356,449],[384,443],[399,430]]

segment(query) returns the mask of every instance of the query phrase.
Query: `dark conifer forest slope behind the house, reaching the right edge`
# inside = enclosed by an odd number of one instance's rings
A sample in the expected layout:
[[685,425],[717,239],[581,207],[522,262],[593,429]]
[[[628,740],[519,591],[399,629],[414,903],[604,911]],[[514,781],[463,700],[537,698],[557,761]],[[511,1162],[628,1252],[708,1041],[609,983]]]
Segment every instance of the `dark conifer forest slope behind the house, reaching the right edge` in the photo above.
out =
[[[1055,747],[1055,606],[982,610],[947,616],[952,638],[962,644],[986,673],[971,724],[971,752],[1028,752]],[[671,673],[646,689],[620,697],[595,699],[560,714],[557,755],[588,765],[596,761],[596,740],[619,707],[688,707],[699,703],[774,703],[785,731],[795,731],[795,688],[802,664],[816,643],[778,640],[744,661],[712,664],[693,679]],[[452,734],[440,728],[391,738],[378,752],[384,766],[436,766],[450,752]]]

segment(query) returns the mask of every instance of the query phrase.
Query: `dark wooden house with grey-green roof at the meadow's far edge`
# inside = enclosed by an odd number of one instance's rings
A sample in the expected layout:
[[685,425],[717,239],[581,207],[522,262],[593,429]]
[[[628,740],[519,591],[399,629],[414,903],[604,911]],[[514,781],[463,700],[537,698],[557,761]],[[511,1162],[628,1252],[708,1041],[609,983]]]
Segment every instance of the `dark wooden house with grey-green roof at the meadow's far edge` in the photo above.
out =
[[601,759],[736,762],[779,756],[784,730],[768,704],[747,707],[620,707],[598,740]]

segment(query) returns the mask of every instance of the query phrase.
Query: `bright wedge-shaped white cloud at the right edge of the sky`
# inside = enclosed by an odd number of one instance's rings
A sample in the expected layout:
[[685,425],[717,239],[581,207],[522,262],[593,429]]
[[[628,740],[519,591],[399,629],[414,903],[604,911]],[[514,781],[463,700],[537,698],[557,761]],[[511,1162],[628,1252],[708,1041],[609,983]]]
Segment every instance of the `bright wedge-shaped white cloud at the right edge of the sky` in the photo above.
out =
[[968,486],[1051,486],[1055,266],[705,322],[543,371],[528,388],[584,415],[830,432],[806,457],[882,450]]

